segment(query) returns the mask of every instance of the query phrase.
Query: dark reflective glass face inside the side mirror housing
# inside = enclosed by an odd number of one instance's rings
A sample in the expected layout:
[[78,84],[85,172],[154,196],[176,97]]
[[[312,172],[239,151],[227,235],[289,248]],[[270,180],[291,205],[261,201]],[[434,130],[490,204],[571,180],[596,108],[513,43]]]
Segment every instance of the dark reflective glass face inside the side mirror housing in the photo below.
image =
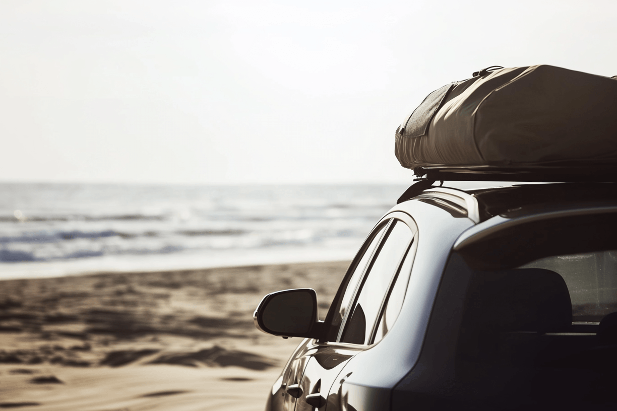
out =
[[312,295],[307,291],[289,291],[275,295],[263,308],[263,325],[272,332],[306,333],[315,319]]

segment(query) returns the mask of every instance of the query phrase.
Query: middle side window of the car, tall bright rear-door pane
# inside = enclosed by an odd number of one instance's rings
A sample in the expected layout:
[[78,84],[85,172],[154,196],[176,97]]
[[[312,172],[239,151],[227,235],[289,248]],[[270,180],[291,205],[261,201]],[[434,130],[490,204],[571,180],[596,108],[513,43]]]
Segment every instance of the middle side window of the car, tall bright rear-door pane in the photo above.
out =
[[396,221],[391,226],[360,285],[360,292],[352,304],[354,309],[347,315],[349,320],[342,333],[342,343],[368,344],[381,303],[412,238],[413,232],[404,222]]

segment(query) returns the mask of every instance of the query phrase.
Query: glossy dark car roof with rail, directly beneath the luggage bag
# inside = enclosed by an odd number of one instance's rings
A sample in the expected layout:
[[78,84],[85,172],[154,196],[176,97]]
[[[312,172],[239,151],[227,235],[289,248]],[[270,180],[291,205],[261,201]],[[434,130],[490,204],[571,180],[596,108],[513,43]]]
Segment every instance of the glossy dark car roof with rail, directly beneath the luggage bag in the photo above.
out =
[[440,206],[465,213],[478,223],[497,215],[516,218],[550,210],[615,205],[617,183],[446,181],[413,198],[439,201]]

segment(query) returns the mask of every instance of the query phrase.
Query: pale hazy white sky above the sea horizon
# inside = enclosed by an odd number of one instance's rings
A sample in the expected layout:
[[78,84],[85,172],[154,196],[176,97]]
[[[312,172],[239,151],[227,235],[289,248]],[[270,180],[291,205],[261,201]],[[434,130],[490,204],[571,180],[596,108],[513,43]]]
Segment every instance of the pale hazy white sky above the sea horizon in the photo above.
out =
[[410,182],[394,131],[490,65],[617,75],[617,1],[0,2],[0,180]]

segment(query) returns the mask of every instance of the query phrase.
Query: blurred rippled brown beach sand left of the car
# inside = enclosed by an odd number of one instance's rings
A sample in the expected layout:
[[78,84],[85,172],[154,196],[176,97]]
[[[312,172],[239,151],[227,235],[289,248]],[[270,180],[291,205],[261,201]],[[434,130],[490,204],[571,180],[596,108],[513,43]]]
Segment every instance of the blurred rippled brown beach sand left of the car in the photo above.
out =
[[326,314],[349,262],[0,282],[0,408],[263,410],[297,338],[255,329],[271,291]]

